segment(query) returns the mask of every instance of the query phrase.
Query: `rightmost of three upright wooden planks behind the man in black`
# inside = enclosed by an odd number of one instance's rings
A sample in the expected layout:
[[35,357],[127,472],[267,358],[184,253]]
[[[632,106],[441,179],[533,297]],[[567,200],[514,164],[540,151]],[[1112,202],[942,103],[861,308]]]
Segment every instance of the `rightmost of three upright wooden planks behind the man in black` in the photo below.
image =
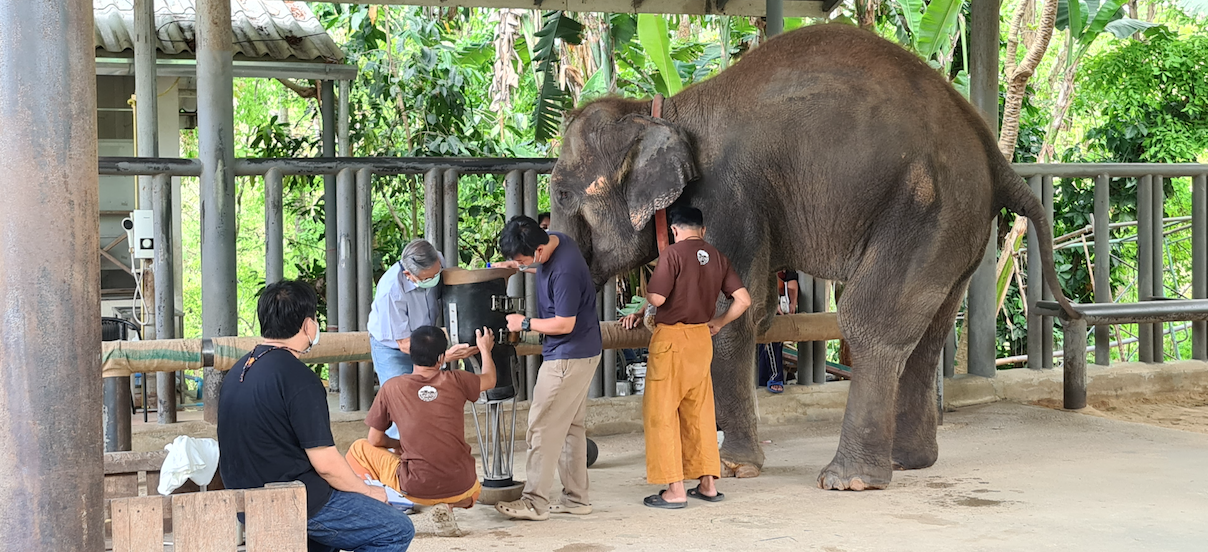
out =
[[244,492],[248,552],[306,550],[306,486],[271,484]]

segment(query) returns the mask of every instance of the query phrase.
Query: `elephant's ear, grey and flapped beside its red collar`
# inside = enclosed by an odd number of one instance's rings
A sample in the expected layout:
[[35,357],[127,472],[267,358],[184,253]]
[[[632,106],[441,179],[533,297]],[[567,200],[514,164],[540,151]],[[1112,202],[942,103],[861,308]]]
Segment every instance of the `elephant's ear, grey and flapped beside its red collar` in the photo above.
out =
[[696,180],[692,145],[667,121],[631,115],[622,121],[638,126],[637,140],[626,159],[625,194],[633,229],[641,229],[658,209],[667,209],[687,182]]

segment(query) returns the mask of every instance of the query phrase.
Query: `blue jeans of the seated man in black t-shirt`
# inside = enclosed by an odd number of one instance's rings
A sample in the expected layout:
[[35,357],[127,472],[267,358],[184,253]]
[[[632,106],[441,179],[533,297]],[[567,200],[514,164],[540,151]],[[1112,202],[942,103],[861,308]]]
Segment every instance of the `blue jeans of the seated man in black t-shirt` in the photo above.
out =
[[403,552],[416,527],[401,510],[364,494],[331,489],[331,499],[307,519],[309,552]]

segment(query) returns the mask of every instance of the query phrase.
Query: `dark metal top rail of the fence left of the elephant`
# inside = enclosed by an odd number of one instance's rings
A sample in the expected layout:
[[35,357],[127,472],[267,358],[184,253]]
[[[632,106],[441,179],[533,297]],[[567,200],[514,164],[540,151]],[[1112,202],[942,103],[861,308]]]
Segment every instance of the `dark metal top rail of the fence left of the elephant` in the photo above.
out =
[[[557,159],[547,158],[488,158],[488,157],[321,157],[321,158],[261,158],[234,159],[236,176],[260,176],[268,169],[288,175],[335,174],[343,169],[370,169],[374,175],[423,174],[429,169],[457,169],[461,174],[507,174],[512,170],[550,173]],[[170,174],[198,176],[198,159],[101,157],[103,175]]]

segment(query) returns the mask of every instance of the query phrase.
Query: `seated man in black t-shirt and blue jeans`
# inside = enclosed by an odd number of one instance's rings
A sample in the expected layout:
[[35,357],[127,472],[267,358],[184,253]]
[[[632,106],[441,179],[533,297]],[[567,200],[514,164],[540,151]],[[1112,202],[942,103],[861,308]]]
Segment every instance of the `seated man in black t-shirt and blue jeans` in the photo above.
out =
[[298,355],[319,342],[318,297],[281,280],[260,295],[265,342],[231,368],[219,395],[219,469],[231,489],[301,481],[310,551],[402,552],[416,529],[336,451],[327,393]]

